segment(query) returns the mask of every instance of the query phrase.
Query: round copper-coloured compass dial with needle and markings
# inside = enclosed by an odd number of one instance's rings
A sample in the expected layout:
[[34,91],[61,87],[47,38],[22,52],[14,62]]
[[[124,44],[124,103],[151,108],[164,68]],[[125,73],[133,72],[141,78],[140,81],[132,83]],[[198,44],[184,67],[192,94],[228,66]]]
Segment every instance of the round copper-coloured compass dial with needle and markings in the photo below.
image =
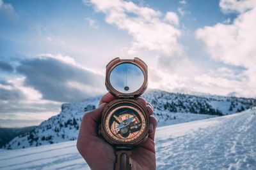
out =
[[130,142],[138,139],[145,131],[145,117],[134,106],[116,106],[105,120],[108,136],[116,141]]

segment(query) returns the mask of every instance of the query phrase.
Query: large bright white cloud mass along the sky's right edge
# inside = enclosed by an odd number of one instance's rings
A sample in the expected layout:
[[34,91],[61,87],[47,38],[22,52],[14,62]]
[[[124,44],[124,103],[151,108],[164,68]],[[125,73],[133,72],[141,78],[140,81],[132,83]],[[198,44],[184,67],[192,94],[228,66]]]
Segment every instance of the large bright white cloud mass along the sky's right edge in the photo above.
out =
[[236,89],[242,96],[250,97],[256,96],[256,8],[253,7],[253,2],[255,1],[221,1],[222,10],[238,11],[241,14],[231,24],[218,23],[198,29],[195,33],[196,38],[204,42],[212,59],[245,68],[243,83],[237,84],[231,80],[229,83],[234,85],[230,88]]

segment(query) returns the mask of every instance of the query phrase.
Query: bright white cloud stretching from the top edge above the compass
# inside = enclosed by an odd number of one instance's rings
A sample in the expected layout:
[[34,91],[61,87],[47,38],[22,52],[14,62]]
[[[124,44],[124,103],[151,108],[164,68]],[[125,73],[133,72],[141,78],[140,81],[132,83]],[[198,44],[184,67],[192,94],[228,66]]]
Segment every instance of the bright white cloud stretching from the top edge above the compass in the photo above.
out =
[[[88,4],[88,1],[84,1]],[[170,24],[177,24],[176,17],[168,17],[165,22],[161,12],[152,8],[138,6],[131,1],[99,1],[90,2],[95,11],[106,15],[106,22],[127,31],[132,36],[129,53],[147,49],[152,52],[172,55],[181,50],[177,39],[180,31]]]

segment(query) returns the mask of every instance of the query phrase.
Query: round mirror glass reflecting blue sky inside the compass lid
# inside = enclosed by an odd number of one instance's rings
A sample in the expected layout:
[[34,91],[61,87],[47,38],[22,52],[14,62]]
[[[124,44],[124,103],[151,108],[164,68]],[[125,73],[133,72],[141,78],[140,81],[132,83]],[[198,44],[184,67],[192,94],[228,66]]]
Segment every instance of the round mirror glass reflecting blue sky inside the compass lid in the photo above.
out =
[[144,82],[144,74],[140,67],[124,63],[111,71],[109,81],[115,90],[128,94],[140,89]]

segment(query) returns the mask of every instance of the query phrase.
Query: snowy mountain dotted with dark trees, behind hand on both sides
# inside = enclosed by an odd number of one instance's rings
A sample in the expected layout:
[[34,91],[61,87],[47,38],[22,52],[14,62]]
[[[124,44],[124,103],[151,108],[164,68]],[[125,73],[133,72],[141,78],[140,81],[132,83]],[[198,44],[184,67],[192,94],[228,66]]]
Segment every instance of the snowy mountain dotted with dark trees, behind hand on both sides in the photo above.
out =
[[[159,127],[228,115],[256,106],[256,99],[192,96],[162,90],[148,90],[143,96],[154,106]],[[100,96],[81,103],[62,104],[59,115],[45,120],[33,131],[17,136],[3,148],[28,148],[76,140],[84,112],[95,109],[99,100]]]

